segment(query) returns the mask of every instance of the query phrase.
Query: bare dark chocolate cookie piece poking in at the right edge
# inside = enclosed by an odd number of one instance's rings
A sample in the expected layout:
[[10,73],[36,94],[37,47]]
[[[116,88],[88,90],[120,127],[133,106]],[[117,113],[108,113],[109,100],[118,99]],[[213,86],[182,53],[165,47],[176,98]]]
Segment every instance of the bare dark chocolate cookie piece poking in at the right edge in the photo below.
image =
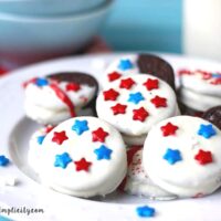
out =
[[204,112],[202,118],[214,124],[219,129],[221,129],[221,105],[212,107]]

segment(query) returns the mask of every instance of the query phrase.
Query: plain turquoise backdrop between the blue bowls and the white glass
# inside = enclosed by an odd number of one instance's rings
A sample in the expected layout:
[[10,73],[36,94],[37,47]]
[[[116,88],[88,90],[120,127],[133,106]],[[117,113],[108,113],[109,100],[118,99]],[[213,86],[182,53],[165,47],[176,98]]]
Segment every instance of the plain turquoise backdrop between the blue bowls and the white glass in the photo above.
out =
[[102,35],[115,50],[181,52],[182,0],[116,0]]

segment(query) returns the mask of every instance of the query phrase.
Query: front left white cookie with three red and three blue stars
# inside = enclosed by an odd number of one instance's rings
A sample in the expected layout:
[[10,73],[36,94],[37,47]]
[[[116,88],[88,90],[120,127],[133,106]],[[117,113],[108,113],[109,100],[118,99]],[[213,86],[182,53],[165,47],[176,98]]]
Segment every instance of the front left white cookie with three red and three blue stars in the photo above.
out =
[[126,175],[126,148],[120,134],[96,117],[61,123],[45,136],[41,148],[42,182],[66,194],[105,196]]

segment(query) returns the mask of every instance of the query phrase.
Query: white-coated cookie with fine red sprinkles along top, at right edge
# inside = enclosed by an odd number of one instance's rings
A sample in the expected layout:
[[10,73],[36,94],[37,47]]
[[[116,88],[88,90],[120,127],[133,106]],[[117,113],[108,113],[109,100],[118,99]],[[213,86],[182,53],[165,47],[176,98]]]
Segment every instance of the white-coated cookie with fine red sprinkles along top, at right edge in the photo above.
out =
[[221,104],[221,73],[202,70],[179,70],[179,99],[198,112]]

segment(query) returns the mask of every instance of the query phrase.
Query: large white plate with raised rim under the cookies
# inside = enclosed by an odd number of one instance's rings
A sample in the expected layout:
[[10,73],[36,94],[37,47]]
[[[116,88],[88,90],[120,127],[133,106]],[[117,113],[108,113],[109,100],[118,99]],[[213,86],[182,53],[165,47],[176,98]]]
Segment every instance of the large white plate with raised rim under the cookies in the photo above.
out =
[[[136,214],[136,208],[144,204],[156,208],[156,220],[215,221],[221,219],[221,192],[201,199],[166,202],[118,193],[109,194],[106,198],[84,200],[54,192],[38,183],[38,177],[33,176],[27,164],[28,141],[38,125],[24,117],[22,82],[32,76],[60,71],[83,71],[92,73],[101,80],[105,66],[118,55],[103,54],[55,60],[15,71],[0,80],[0,155],[9,156],[12,161],[8,167],[0,168],[0,177],[10,175],[19,180],[15,187],[0,187],[0,209],[27,207],[44,210],[43,214],[35,213],[29,217],[12,213],[10,215],[12,219],[53,221],[144,220]],[[162,54],[162,56],[172,64],[175,70],[182,67],[221,70],[220,63],[211,61],[168,54]]]

